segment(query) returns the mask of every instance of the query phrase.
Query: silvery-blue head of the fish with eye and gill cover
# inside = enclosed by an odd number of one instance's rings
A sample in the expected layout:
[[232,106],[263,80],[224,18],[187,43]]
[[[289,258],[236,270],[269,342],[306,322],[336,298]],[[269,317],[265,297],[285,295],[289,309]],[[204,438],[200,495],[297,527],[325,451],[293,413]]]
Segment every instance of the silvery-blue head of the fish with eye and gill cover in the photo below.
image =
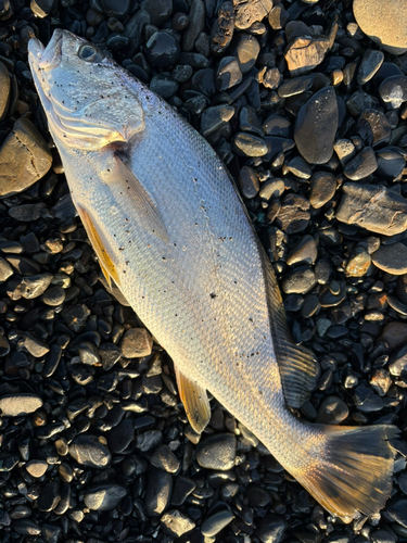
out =
[[129,77],[94,43],[58,28],[46,48],[31,38],[28,58],[55,142],[98,150],[144,129]]

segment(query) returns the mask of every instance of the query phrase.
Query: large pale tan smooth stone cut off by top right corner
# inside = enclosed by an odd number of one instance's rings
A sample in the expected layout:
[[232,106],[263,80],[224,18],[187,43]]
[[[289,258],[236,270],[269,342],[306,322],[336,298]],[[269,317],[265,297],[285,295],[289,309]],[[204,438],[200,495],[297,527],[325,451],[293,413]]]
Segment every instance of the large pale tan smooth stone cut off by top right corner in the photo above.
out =
[[399,0],[354,0],[354,15],[360,29],[392,54],[407,51],[407,4]]

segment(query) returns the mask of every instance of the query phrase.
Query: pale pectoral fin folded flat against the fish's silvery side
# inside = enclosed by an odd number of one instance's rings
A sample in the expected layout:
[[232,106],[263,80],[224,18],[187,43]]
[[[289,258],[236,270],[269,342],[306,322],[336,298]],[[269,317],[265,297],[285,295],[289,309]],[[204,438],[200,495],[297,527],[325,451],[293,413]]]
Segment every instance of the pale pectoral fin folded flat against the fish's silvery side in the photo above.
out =
[[113,175],[110,176],[107,182],[117,201],[120,201],[120,198],[130,199],[136,216],[145,230],[154,233],[165,243],[169,242],[167,229],[155,202],[131,169],[117,155],[115,155]]

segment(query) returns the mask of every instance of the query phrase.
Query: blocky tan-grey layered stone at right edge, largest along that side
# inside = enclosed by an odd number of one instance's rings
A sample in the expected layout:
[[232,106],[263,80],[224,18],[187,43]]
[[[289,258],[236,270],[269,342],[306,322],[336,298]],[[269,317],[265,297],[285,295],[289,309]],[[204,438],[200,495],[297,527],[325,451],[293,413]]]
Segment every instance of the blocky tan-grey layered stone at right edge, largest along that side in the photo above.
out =
[[407,229],[407,201],[382,186],[346,182],[335,216],[348,225],[394,236]]

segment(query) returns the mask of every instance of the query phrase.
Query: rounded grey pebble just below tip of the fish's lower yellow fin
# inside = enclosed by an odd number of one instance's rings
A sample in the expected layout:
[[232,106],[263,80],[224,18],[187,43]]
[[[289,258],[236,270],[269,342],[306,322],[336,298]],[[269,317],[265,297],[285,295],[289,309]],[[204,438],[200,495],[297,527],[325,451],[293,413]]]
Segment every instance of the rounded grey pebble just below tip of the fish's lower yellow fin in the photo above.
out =
[[237,441],[231,433],[218,433],[200,441],[198,464],[206,469],[227,471],[234,466]]

